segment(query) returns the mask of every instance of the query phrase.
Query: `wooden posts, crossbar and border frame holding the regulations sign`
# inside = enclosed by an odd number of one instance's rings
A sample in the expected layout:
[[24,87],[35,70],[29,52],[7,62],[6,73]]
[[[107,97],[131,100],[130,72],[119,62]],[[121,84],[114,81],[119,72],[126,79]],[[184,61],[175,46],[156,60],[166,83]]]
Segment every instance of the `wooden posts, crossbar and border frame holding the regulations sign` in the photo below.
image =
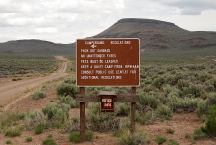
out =
[[[105,40],[107,38],[97,38],[98,40]],[[140,80],[140,39],[139,38],[108,38],[109,40],[114,39],[126,39],[126,40],[130,40],[130,39],[137,39],[138,43],[139,43],[139,80]],[[78,39],[79,40],[79,39]],[[77,42],[78,42],[77,40]],[[85,39],[85,40],[95,40],[94,39]],[[78,43],[76,43],[77,45]],[[77,46],[76,46],[76,58],[77,58]],[[76,68],[77,68],[77,61],[76,61]],[[76,73],[76,75],[78,75],[78,73]],[[77,77],[78,78],[78,77]],[[130,79],[131,80],[131,79]],[[78,81],[76,81],[77,85],[78,85]],[[140,84],[140,81],[139,81]],[[139,86],[139,84],[135,84],[133,85],[118,85],[118,84],[114,84],[114,85],[107,85],[105,84],[105,86],[110,86],[110,87],[131,87],[131,91],[128,94],[115,94],[115,98],[114,102],[130,102],[131,103],[131,110],[130,110],[130,120],[131,120],[131,125],[130,125],[130,130],[133,133],[135,131],[135,110],[136,110],[136,102],[138,101],[138,96],[136,95],[136,87]],[[89,85],[91,87],[93,87],[94,85]],[[103,85],[96,85],[96,86],[103,86]],[[85,87],[88,87],[87,85],[78,85],[79,87],[79,94],[76,96],[76,100],[78,102],[80,102],[80,137],[81,137],[81,141],[85,141],[85,129],[86,129],[86,117],[85,117],[85,105],[87,102],[100,102],[101,101],[101,95],[100,94],[95,94],[95,95],[87,95],[86,94],[86,89]],[[104,95],[111,95],[110,92],[104,94]]]

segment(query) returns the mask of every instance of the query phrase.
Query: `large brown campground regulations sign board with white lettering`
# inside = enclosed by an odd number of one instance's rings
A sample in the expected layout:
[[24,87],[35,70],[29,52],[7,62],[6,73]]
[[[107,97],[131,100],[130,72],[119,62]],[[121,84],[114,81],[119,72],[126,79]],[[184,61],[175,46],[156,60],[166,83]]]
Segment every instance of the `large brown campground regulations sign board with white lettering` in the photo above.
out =
[[78,86],[139,86],[140,41],[135,38],[78,39]]

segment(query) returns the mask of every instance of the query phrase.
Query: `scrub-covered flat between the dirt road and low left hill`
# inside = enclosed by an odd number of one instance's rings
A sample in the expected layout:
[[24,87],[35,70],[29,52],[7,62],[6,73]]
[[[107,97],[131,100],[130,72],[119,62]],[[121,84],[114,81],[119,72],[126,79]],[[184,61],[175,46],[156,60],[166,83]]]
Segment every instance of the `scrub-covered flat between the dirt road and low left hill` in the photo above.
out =
[[0,55],[0,77],[32,76],[50,73],[56,69],[57,62],[52,56]]

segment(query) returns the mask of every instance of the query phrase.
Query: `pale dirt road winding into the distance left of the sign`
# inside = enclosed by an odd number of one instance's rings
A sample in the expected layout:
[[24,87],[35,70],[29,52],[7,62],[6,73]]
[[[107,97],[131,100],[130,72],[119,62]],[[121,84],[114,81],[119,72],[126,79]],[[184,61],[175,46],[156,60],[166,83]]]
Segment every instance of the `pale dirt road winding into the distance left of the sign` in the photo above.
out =
[[[7,110],[10,105],[29,95],[27,93],[29,92],[29,90],[37,88],[45,82],[57,80],[59,78],[67,76],[67,59],[62,56],[56,56],[56,59],[61,62],[59,68],[56,72],[48,76],[20,80],[17,82],[8,82],[4,85],[1,85],[0,106],[4,108],[3,110]],[[27,94],[22,95],[24,93]]]

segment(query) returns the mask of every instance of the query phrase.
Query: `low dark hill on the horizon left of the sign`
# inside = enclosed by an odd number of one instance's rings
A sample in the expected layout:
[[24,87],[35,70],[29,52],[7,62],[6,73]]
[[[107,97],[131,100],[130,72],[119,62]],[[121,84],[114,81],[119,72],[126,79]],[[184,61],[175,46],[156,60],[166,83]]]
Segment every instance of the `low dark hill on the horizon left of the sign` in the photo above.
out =
[[57,44],[42,40],[16,40],[0,43],[0,53],[72,54],[73,44]]

